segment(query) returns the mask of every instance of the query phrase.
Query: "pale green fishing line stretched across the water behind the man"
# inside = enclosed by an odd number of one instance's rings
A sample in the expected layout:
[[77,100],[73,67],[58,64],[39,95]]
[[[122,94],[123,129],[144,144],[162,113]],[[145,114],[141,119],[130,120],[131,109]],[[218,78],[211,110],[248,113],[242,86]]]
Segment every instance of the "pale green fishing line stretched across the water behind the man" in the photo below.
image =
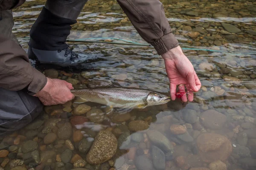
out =
[[[23,39],[23,40],[29,40],[29,37],[17,37],[17,39]],[[120,40],[120,41],[125,41],[125,42],[130,42],[130,43],[122,43],[122,42],[107,42],[107,41],[88,41],[88,40],[100,40],[100,39],[105,39],[105,40]],[[107,43],[107,44],[118,44],[118,45],[139,45],[139,46],[152,46],[151,44],[141,44],[138,42],[133,42],[129,40],[123,40],[119,38],[83,38],[83,39],[76,39],[76,40],[66,40],[67,42],[96,42],[96,43]],[[236,55],[250,55],[250,54],[256,54],[256,53],[250,53],[250,52],[244,52],[244,53],[236,53],[236,51],[225,51],[225,50],[212,50],[212,49],[206,49],[206,48],[181,48],[182,50],[195,50],[195,51],[208,51],[208,52],[220,52],[220,53],[226,53],[226,54],[236,54]]]

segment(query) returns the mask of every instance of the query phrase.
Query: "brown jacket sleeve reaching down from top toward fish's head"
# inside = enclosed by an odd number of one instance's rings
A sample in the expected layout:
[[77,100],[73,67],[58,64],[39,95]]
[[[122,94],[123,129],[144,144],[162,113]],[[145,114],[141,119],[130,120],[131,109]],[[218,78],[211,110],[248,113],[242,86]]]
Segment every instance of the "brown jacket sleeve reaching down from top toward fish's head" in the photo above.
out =
[[161,55],[178,46],[159,0],[117,0],[140,36]]

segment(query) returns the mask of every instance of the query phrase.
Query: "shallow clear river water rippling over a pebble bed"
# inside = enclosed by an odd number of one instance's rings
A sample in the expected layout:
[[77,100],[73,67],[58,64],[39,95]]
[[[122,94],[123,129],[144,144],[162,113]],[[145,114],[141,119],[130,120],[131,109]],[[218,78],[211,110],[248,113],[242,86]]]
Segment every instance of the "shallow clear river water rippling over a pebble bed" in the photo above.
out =
[[[122,114],[118,109],[105,114],[110,108],[91,102],[47,106],[31,125],[5,137],[0,146],[9,150],[9,155],[0,154],[2,167],[256,169],[256,2],[162,2],[170,26],[203,85],[194,102],[176,100]],[[28,37],[43,5],[44,1],[29,0],[14,10],[17,37]],[[88,1],[69,36],[96,37],[145,43],[118,4],[109,0]],[[25,49],[27,42],[20,40]],[[118,82],[125,87],[169,92],[163,59],[152,47],[72,46],[100,59],[72,71],[43,68],[44,74],[67,80],[74,88]],[[38,147],[31,148],[31,140]],[[102,163],[104,159],[108,161]]]

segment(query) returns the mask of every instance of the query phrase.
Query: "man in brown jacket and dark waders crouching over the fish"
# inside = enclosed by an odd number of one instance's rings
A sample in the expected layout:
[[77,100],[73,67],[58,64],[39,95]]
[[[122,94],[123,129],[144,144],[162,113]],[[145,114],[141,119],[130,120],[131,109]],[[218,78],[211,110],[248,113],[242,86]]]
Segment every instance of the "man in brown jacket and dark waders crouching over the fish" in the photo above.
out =
[[[45,77],[30,65],[29,58],[59,66],[76,65],[90,58],[77,54],[65,43],[87,0],[47,0],[30,30],[28,54],[12,34],[12,9],[25,1],[0,0],[0,135],[28,125],[41,113],[43,105],[63,104],[74,98],[70,83]],[[162,3],[159,0],[117,2],[140,36],[163,57],[172,100],[176,85],[180,85],[180,90],[186,86],[197,92],[201,82],[172,34]],[[193,96],[188,99],[192,101]],[[187,101],[186,95],[182,100]]]

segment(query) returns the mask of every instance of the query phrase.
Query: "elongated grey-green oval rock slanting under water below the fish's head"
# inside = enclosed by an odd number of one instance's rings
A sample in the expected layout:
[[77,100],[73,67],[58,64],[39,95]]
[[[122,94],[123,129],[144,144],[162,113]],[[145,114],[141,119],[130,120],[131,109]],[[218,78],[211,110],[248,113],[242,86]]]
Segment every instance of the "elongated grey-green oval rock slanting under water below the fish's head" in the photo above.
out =
[[162,133],[156,130],[148,130],[147,136],[154,145],[164,152],[173,151],[172,143]]

